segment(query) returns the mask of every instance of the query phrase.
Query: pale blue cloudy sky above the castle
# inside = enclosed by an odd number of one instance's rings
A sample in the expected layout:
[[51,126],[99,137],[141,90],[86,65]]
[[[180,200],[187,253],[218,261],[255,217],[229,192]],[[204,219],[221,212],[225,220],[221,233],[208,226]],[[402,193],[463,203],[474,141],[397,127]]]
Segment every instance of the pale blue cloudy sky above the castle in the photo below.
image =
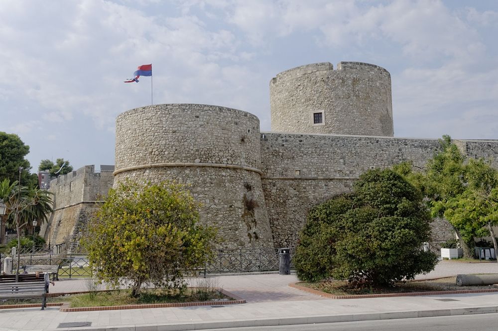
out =
[[315,62],[391,73],[394,135],[498,139],[496,0],[1,0],[0,131],[28,160],[114,164],[118,114],[154,103],[248,111]]

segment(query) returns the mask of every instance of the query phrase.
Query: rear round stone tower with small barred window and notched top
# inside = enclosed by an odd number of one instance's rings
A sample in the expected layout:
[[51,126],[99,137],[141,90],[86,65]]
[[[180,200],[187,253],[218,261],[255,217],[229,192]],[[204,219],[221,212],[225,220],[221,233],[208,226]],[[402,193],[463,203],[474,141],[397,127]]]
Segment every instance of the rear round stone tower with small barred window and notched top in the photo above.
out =
[[308,64],[270,81],[271,130],[392,137],[391,76],[361,62]]

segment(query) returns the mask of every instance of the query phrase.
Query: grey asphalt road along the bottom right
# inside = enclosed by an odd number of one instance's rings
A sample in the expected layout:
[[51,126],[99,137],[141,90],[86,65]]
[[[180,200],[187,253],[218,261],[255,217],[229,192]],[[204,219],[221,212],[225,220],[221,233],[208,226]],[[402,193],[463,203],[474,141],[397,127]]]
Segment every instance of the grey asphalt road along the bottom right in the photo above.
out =
[[498,314],[426,317],[382,321],[360,321],[323,324],[288,325],[279,327],[254,327],[211,329],[209,331],[496,331]]

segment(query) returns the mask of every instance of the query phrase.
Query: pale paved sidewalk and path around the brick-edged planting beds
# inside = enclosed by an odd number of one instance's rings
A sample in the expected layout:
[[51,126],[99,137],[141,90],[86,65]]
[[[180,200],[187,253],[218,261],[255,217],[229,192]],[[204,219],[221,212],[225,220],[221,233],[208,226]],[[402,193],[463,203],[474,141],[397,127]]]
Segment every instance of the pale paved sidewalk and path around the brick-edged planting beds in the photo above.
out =
[[[496,264],[441,262],[433,277],[449,273],[487,273]],[[426,277],[426,276],[421,276]],[[0,330],[201,330],[445,315],[497,313],[498,293],[333,300],[287,286],[294,275],[216,277],[219,285],[247,304],[212,307],[155,308],[123,311],[61,313],[58,308],[0,311]],[[56,282],[57,289],[84,287],[84,280]],[[81,288],[80,290],[86,290]],[[441,301],[441,299],[451,299]],[[90,327],[57,328],[61,323],[90,322]]]

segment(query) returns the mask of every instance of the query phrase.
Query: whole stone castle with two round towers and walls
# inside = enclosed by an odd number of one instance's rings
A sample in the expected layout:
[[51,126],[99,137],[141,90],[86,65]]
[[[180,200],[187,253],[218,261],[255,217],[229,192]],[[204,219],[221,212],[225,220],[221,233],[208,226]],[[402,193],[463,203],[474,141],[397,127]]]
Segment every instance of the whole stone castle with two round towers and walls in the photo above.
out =
[[[87,165],[52,180],[48,241],[76,251],[92,212],[125,178],[189,185],[201,222],[219,228],[220,248],[293,247],[309,208],[351,189],[363,172],[439,149],[435,139],[393,137],[391,80],[372,64],[304,65],[270,80],[272,132],[247,112],[198,104],[152,105],[116,120],[116,165]],[[498,141],[455,141],[498,166]],[[433,235],[453,237],[435,221]]]

